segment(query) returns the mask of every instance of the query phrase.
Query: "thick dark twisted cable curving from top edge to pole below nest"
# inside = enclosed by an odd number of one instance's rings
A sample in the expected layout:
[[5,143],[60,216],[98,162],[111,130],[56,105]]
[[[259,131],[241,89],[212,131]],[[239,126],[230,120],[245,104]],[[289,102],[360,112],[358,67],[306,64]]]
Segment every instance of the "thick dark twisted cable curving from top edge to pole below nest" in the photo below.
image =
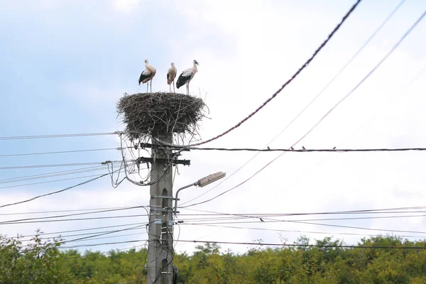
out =
[[[271,102],[272,99],[274,99],[285,87],[287,87],[287,85],[290,84],[290,82],[292,82],[295,79],[295,77],[297,77],[297,75],[299,75],[300,72],[302,72],[302,70],[304,70],[307,67],[307,65],[310,64],[310,62],[317,56],[317,54],[320,53],[320,50],[322,50],[322,48],[324,48],[324,46],[329,42],[329,40],[332,39],[334,33],[336,33],[339,30],[339,28],[342,26],[342,24],[344,23],[344,21],[346,21],[346,18],[349,17],[349,15],[354,11],[354,9],[356,8],[356,6],[358,6],[358,4],[360,2],[361,2],[361,0],[357,0],[356,1],[356,3],[351,7],[351,9],[349,9],[349,11],[344,15],[344,17],[342,18],[342,21],[340,21],[340,23],[337,24],[337,26],[333,29],[332,33],[330,33],[328,35],[327,39],[324,40],[324,42],[320,45],[319,48],[317,48],[317,50],[315,50],[315,52],[313,53],[313,55],[302,65],[302,67],[299,68],[299,70],[297,70],[297,72],[295,72],[295,74],[292,77],[290,77],[290,79],[287,82],[285,82],[280,87],[280,89],[278,89],[271,97],[269,97],[268,99],[266,99],[266,101],[263,102],[263,104],[261,104],[260,107],[258,107],[255,111],[253,111],[251,114],[249,114],[249,116],[246,116],[246,118],[244,118],[241,121],[239,121],[238,124],[232,126],[230,129],[224,131],[223,133],[221,133],[221,134],[219,134],[217,136],[214,136],[213,138],[209,138],[206,141],[200,141],[198,143],[189,144],[189,145],[186,145],[185,147],[200,146],[202,144],[212,142],[212,141],[216,140],[217,138],[220,138],[220,137],[226,135],[227,133],[233,131],[234,129],[238,128],[239,126],[241,126],[241,124],[244,124],[244,122],[246,122],[247,120],[249,120],[258,111],[260,111],[261,109],[263,109],[263,107],[265,107],[266,104],[268,104],[269,102]],[[174,146],[173,144],[165,143],[163,141],[158,141],[158,142],[162,143],[163,145]]]

